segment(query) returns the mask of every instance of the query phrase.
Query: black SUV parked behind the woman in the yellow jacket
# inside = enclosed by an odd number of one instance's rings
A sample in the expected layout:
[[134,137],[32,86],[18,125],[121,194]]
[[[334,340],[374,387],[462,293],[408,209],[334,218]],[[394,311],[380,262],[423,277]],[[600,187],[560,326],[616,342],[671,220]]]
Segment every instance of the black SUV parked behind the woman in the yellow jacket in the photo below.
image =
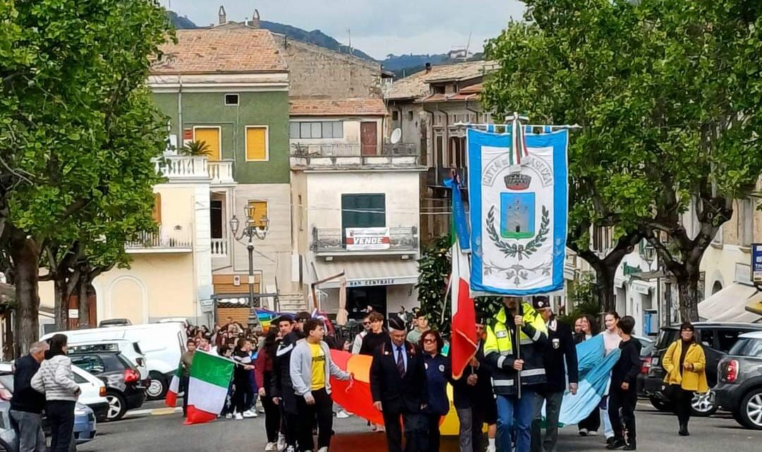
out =
[[[694,323],[696,339],[699,340],[706,355],[706,380],[709,387],[717,384],[717,364],[730,352],[738,336],[743,333],[762,331],[762,325],[755,323],[722,323],[722,322],[698,322]],[[651,400],[651,404],[661,411],[672,411],[672,404],[664,394],[664,375],[666,372],[661,367],[661,359],[667,352],[669,345],[680,337],[680,326],[664,326],[659,332],[651,358],[651,368],[645,377],[645,394]],[[708,416],[717,411],[717,403],[714,393],[696,394],[693,397],[693,415]]]

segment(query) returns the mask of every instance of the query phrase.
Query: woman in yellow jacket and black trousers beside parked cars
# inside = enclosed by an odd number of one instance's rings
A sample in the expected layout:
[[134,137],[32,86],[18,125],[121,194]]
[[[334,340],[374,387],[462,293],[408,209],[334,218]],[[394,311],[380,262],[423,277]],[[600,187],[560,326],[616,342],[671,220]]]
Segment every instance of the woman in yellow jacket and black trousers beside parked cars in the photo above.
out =
[[680,325],[680,339],[672,342],[661,361],[667,376],[664,383],[675,406],[677,420],[680,422],[680,436],[688,436],[690,403],[693,393],[706,393],[706,356],[704,349],[696,341],[693,325],[684,322]]

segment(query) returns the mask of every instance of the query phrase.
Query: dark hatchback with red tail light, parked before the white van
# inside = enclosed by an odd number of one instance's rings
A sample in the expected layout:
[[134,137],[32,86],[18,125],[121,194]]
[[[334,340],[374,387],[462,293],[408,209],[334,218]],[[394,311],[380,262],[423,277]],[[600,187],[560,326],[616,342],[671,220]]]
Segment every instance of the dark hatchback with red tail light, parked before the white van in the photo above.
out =
[[70,353],[69,358],[106,384],[106,421],[122,419],[128,409],[140,408],[146,401],[148,380],[140,380],[137,368],[121,352]]

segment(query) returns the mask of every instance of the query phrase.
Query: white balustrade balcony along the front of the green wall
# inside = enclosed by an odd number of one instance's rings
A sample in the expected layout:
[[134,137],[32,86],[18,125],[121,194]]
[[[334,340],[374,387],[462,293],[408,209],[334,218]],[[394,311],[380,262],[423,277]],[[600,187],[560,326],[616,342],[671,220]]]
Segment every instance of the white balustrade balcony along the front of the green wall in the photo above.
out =
[[154,161],[156,172],[168,183],[204,183],[213,186],[235,185],[233,161],[209,161],[206,157],[166,155]]

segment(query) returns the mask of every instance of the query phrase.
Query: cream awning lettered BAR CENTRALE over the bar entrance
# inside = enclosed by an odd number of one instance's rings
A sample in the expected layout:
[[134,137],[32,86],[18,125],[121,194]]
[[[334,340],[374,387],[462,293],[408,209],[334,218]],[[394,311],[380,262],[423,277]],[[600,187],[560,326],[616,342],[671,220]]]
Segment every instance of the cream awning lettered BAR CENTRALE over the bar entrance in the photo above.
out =
[[[334,260],[331,262],[315,262],[317,279],[344,272],[347,287],[370,285],[404,285],[418,282],[418,262],[415,259],[384,259],[384,260]],[[319,288],[338,288],[338,279],[325,282]]]

